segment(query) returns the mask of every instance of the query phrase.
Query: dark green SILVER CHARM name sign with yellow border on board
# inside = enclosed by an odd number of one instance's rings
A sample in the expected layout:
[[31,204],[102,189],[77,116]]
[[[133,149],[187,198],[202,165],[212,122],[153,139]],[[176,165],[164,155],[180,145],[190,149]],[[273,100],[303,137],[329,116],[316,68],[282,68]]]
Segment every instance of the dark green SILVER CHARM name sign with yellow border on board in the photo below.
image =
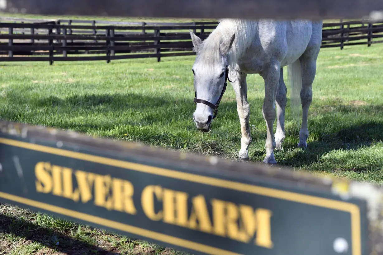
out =
[[2,135],[0,200],[193,254],[367,255],[365,201],[126,151]]

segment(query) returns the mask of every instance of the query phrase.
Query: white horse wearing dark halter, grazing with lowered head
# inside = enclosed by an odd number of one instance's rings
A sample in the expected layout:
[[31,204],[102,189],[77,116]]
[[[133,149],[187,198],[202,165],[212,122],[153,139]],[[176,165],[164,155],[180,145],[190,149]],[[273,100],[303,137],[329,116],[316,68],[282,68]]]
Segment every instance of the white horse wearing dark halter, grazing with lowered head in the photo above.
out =
[[[300,94],[303,109],[298,146],[307,148],[308,110],[313,97],[311,86],[316,75],[316,60],[322,41],[322,21],[223,19],[204,41],[191,30],[190,35],[196,52],[192,70],[196,94],[193,120],[197,128],[203,132],[210,130],[211,121],[226,89],[226,79],[230,79],[236,93],[241,122],[239,158],[249,159],[248,149],[252,138],[246,76],[258,73],[265,80],[262,115],[267,126],[267,138],[264,162],[277,163],[274,149],[282,149],[285,139],[287,89],[282,67],[289,65],[292,99],[297,97],[299,104]],[[274,135],[275,117],[277,130]]]

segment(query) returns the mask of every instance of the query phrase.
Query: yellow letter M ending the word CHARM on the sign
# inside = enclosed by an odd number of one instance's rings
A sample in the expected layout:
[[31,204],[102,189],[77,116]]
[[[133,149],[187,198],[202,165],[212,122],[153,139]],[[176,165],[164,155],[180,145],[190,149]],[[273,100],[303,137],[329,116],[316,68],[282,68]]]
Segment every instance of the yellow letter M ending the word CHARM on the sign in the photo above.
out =
[[241,205],[239,211],[241,213],[244,229],[249,237],[253,237],[255,231],[257,231],[255,244],[271,249],[273,247],[270,223],[272,211],[259,208],[254,212],[254,209],[248,205]]

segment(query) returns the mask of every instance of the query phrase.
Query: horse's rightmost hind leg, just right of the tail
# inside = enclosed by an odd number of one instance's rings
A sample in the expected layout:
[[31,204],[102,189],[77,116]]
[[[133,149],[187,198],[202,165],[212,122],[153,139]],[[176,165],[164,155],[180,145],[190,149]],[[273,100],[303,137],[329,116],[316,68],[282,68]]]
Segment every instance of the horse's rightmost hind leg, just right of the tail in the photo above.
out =
[[[312,52],[311,52],[312,53]],[[308,113],[311,101],[313,99],[312,85],[316,74],[316,58],[318,54],[303,54],[300,58],[302,67],[302,89],[301,89],[301,104],[302,104],[302,126],[299,131],[298,147],[307,148],[307,139],[309,137],[308,130]]]

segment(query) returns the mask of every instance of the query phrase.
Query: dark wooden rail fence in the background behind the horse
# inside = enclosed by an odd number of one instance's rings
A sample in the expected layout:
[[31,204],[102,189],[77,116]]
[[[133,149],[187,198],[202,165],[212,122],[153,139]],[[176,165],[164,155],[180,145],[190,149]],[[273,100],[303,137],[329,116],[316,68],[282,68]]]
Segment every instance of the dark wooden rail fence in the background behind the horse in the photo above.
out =
[[[11,22],[13,21],[13,22]],[[73,61],[193,55],[189,29],[205,39],[218,22],[147,23],[0,19],[0,61]],[[383,21],[324,23],[322,47],[383,42]],[[84,55],[86,54],[86,55]]]

